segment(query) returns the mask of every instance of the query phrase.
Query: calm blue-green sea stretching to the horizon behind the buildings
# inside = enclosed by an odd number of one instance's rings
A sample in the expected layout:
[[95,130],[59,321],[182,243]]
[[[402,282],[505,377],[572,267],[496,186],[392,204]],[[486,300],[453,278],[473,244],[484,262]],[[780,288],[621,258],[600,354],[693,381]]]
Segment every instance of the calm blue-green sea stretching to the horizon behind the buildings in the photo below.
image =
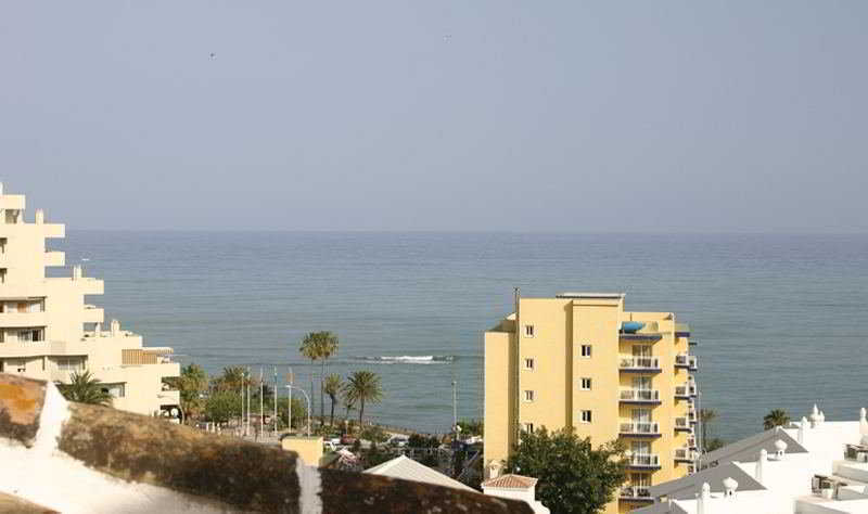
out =
[[[856,419],[865,399],[867,235],[559,235],[82,232],[50,242],[105,280],[106,320],[209,372],[279,362],[308,381],[306,332],[341,338],[331,371],[380,373],[370,414],[426,432],[482,416],[482,333],[524,296],[627,293],[629,310],[691,324],[716,432],[820,404]],[[68,273],[68,272],[67,272]],[[426,363],[380,357],[435,356]],[[309,387],[309,386],[308,386]],[[328,411],[328,400],[327,400]]]

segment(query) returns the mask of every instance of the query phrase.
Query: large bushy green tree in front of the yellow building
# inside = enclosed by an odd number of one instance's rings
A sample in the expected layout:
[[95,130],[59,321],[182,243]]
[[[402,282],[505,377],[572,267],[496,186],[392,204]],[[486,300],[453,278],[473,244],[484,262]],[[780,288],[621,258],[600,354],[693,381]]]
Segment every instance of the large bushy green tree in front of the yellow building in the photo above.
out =
[[542,427],[522,433],[506,467],[538,478],[536,499],[551,512],[591,514],[602,512],[626,479],[624,455],[621,441],[595,450],[590,438],[579,438],[573,428]]

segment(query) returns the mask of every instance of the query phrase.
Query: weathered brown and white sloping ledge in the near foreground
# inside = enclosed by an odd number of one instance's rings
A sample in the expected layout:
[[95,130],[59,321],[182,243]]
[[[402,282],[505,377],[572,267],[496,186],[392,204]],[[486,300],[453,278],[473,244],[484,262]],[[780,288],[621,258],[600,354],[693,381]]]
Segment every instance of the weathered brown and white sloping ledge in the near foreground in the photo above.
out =
[[[53,384],[0,374],[0,460],[10,462],[5,459],[27,462],[36,466],[33,473],[63,483],[13,484],[15,475],[0,470],[0,493],[64,512],[114,512],[120,505],[125,512],[531,512],[524,502],[469,491],[320,472],[278,447],[68,403]],[[54,489],[65,487],[63,498],[69,501],[68,490],[77,481],[81,489],[101,490],[84,491],[80,505],[59,504]],[[90,498],[99,494],[105,498]]]

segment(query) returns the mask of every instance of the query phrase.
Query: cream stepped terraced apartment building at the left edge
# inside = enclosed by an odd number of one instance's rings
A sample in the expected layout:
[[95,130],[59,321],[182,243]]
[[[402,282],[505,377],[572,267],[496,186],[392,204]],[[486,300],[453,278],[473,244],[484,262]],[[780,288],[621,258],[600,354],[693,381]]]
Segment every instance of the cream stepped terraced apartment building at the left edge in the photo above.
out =
[[42,210],[25,221],[24,195],[4,194],[0,184],[0,372],[68,383],[89,371],[113,397],[113,406],[141,414],[177,416],[179,394],[163,378],[179,375],[171,348],[143,347],[142,337],[112,320],[103,330],[103,309],[86,303],[103,294],[101,280],[46,277],[47,267],[65,265],[63,252],[46,249],[47,239],[65,227],[47,223]]

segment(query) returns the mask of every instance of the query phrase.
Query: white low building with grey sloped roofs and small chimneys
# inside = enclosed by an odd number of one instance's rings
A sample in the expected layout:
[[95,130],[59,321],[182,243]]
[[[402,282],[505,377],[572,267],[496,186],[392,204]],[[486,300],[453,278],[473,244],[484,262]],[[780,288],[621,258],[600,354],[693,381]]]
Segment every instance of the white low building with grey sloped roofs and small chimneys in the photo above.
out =
[[797,423],[702,455],[693,475],[653,486],[637,514],[868,512],[868,421],[827,422],[814,406]]

